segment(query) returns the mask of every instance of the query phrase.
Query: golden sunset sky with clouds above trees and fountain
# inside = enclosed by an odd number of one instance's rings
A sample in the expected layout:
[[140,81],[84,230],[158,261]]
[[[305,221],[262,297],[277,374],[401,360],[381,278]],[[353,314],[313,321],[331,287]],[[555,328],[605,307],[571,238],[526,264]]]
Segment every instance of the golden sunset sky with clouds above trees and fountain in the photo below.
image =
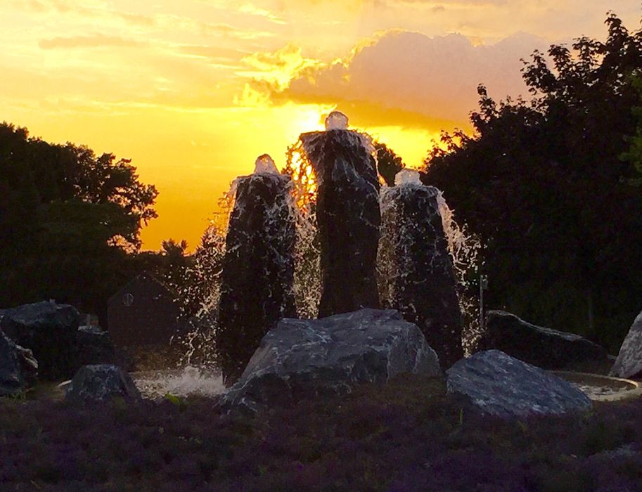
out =
[[639,27],[639,0],[2,0],[0,121],[127,157],[160,190],[143,248],[198,244],[229,182],[338,108],[417,166],[520,58]]

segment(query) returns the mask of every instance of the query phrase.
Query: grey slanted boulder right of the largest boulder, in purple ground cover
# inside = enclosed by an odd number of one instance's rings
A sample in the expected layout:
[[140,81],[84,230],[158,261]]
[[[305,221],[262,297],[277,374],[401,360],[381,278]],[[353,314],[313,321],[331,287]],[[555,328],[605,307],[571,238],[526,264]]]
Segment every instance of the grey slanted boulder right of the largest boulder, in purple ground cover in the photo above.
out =
[[569,382],[499,350],[458,361],[447,370],[447,389],[474,410],[503,418],[564,415],[592,406]]

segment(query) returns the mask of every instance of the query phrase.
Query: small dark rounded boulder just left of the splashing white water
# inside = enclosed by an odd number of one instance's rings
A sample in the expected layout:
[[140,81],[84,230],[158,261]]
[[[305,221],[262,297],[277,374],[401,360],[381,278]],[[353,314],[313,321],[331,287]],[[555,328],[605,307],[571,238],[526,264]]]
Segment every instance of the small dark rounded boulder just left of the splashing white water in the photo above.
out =
[[141,399],[134,381],[116,365],[84,365],[67,387],[66,398],[75,403],[96,403],[122,398],[133,402]]

